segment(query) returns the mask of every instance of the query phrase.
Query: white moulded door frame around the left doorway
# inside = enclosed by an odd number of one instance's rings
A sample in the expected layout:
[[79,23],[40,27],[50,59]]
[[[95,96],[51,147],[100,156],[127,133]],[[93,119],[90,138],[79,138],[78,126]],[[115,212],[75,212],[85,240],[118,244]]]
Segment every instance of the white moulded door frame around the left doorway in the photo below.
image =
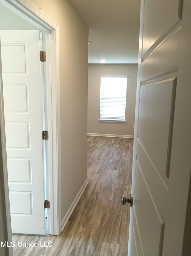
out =
[[[60,83],[59,83],[59,28],[52,19],[43,13],[36,5],[29,0],[4,0],[4,2],[13,6],[26,15],[29,20],[35,21],[39,26],[50,31],[49,49],[47,59],[50,63],[47,65],[47,74],[45,82],[45,101],[48,120],[46,127],[49,131],[49,140],[47,143],[47,198],[50,201],[49,211],[49,232],[51,235],[61,234],[61,145],[60,145]],[[0,63],[0,76],[2,79],[2,69]],[[2,81],[0,83],[0,92],[2,92]],[[2,95],[1,95],[2,99]],[[2,103],[1,103],[2,105]],[[2,108],[1,108],[2,110]],[[0,113],[0,121],[4,120],[4,108]],[[1,136],[5,139],[5,129],[1,130]],[[4,149],[3,141],[3,149]],[[3,152],[6,156],[6,150]],[[7,164],[4,166],[4,177],[7,177]],[[7,225],[10,227],[10,207],[9,207],[9,189],[8,180],[4,180],[4,189],[6,197]]]

